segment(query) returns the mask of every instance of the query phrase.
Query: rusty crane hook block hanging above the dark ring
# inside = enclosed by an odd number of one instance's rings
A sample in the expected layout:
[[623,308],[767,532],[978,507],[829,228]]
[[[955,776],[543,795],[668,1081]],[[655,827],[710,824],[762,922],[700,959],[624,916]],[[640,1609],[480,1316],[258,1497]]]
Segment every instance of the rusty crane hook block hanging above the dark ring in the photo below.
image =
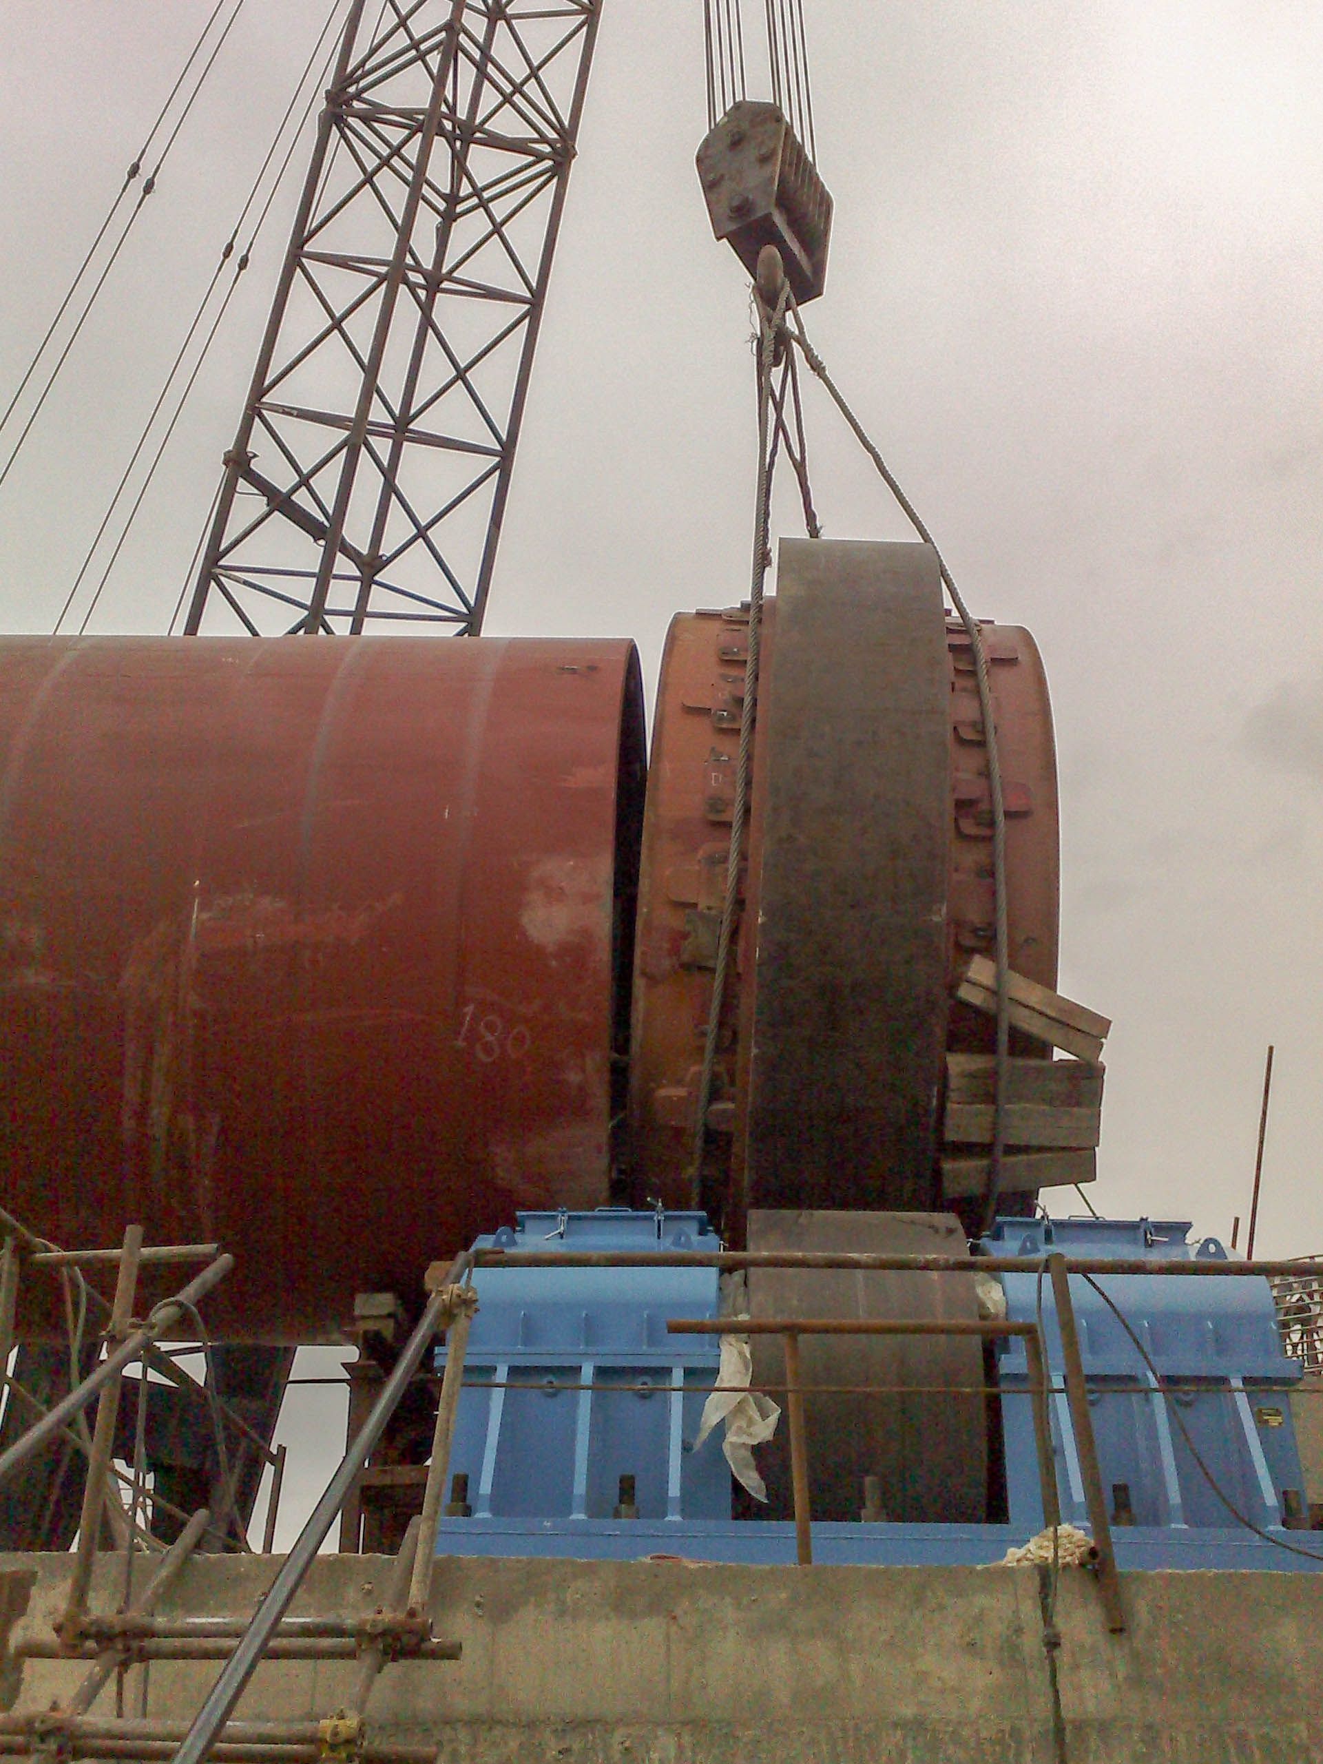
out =
[[699,148],[699,182],[716,238],[729,238],[750,275],[776,245],[803,305],[827,280],[831,194],[776,104],[741,99]]

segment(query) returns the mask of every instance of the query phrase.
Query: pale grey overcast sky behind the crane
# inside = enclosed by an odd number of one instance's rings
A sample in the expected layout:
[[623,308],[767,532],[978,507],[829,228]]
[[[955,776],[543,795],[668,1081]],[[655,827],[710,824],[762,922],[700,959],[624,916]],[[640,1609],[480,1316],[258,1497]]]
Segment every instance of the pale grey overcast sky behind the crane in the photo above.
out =
[[[247,0],[0,487],[0,628],[51,628],[326,5]],[[210,7],[0,9],[0,407]],[[1062,990],[1115,1020],[1094,1200],[1230,1237],[1274,1041],[1258,1247],[1323,1251],[1323,9],[804,11],[836,199],[810,332],[974,610],[1048,667]],[[649,677],[672,610],[748,580],[748,302],[704,125],[699,0],[605,0],[487,624],[628,633]],[[166,628],[293,196],[92,630]],[[829,536],[908,536],[811,392],[810,457]]]

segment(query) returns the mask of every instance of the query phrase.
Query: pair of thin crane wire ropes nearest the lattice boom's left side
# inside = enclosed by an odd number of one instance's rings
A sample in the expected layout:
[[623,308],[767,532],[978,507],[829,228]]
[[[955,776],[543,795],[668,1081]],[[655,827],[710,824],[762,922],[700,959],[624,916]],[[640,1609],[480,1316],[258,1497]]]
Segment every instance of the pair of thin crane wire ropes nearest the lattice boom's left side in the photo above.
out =
[[[284,136],[284,132],[286,132],[286,129],[289,125],[289,118],[295,115],[295,109],[298,106],[300,95],[303,92],[303,86],[307,85],[309,74],[314,71],[314,67],[318,64],[318,58],[321,56],[323,46],[326,42],[326,35],[328,35],[328,32],[332,28],[332,25],[333,25],[335,16],[337,16],[339,11],[340,11],[340,0],[333,0],[332,9],[326,14],[326,21],[323,23],[321,32],[318,34],[318,39],[316,39],[316,42],[312,46],[312,53],[309,55],[309,58],[307,58],[307,62],[305,62],[305,65],[303,65],[298,79],[295,81],[293,95],[291,95],[289,102],[286,104],[286,109],[284,109],[284,115],[280,116],[280,122],[277,125],[275,136],[272,138],[272,145],[266,150],[266,157],[263,159],[261,168],[258,169],[258,176],[252,182],[252,189],[249,191],[249,196],[247,196],[247,199],[243,203],[243,208],[240,210],[240,215],[238,215],[238,219],[236,219],[236,222],[235,222],[235,226],[233,226],[233,229],[229,233],[229,238],[226,240],[224,247],[220,249],[220,258],[219,258],[219,261],[215,265],[215,270],[212,272],[212,279],[206,284],[206,291],[203,293],[203,298],[198,303],[198,310],[194,312],[192,323],[189,325],[189,330],[187,330],[187,333],[183,337],[183,342],[180,344],[178,353],[175,355],[175,360],[173,360],[173,363],[169,367],[169,372],[166,374],[166,381],[164,381],[164,385],[161,388],[161,393],[157,395],[157,400],[152,406],[152,411],[150,411],[150,415],[146,418],[146,423],[143,425],[143,432],[138,437],[138,445],[134,446],[132,455],[129,457],[129,464],[123,467],[123,473],[120,476],[118,485],[115,487],[111,501],[109,501],[109,505],[106,508],[106,513],[104,513],[104,517],[101,520],[101,526],[97,527],[97,533],[95,533],[95,536],[92,540],[92,545],[88,547],[86,556],[83,557],[83,564],[78,570],[78,575],[74,577],[74,584],[69,589],[69,594],[65,596],[64,607],[60,609],[60,616],[55,621],[55,632],[56,633],[60,632],[60,626],[64,624],[65,617],[69,616],[69,609],[72,607],[74,598],[78,596],[78,589],[81,587],[83,579],[86,577],[86,572],[92,568],[92,561],[93,561],[93,557],[97,554],[97,549],[99,549],[99,545],[101,545],[101,542],[102,542],[102,538],[106,534],[106,529],[111,524],[111,519],[115,517],[115,510],[120,505],[120,499],[122,499],[122,496],[123,496],[123,492],[125,492],[125,489],[129,485],[132,471],[134,471],[138,460],[141,459],[143,450],[146,448],[146,443],[150,439],[150,434],[152,434],[152,429],[155,425],[155,420],[157,420],[157,416],[161,415],[161,409],[166,404],[169,390],[171,390],[171,386],[173,386],[173,383],[175,383],[175,379],[176,379],[176,376],[178,376],[178,372],[180,372],[180,369],[182,369],[182,365],[183,365],[183,362],[187,358],[189,348],[191,348],[191,344],[192,344],[192,340],[194,340],[194,337],[196,337],[196,333],[198,333],[198,330],[199,330],[199,326],[203,323],[203,318],[206,314],[206,307],[208,307],[208,303],[212,300],[212,295],[215,293],[215,288],[217,288],[217,284],[220,280],[224,266],[226,266],[226,263],[229,261],[229,258],[235,252],[235,245],[238,243],[240,229],[243,228],[243,222],[247,220],[249,212],[252,210],[252,205],[258,201],[258,196],[261,192],[261,185],[263,185],[263,182],[266,178],[266,173],[268,173],[268,169],[272,166],[272,161],[275,159],[275,153],[279,152],[280,139],[282,139],[282,136]],[[326,65],[328,64],[323,64],[323,72],[321,72],[323,79],[325,79]],[[275,196],[277,196],[277,192],[280,189],[280,183],[284,182],[284,175],[289,169],[289,161],[293,159],[295,148],[298,146],[303,125],[307,123],[307,118],[309,118],[309,113],[312,109],[312,104],[316,102],[316,97],[318,97],[318,83],[314,83],[312,93],[303,102],[303,113],[298,118],[298,123],[296,123],[293,134],[289,136],[289,143],[286,146],[284,159],[280,161],[280,168],[275,173],[275,178],[272,180],[272,185],[270,185],[270,189],[266,192],[266,199],[265,199],[265,203],[263,203],[263,206],[261,206],[261,210],[258,213],[258,219],[256,219],[256,222],[252,226],[252,233],[249,236],[249,242],[247,242],[245,249],[240,252],[238,261],[235,263],[235,273],[231,277],[229,288],[226,289],[224,298],[220,302],[220,307],[219,307],[215,318],[212,319],[212,326],[206,332],[206,337],[203,339],[201,351],[198,353],[198,358],[192,363],[192,370],[189,372],[189,377],[187,377],[187,381],[183,385],[183,390],[180,392],[180,397],[178,397],[178,400],[175,404],[175,411],[173,411],[173,415],[171,415],[171,418],[169,418],[169,422],[166,425],[166,430],[164,430],[164,434],[161,437],[157,452],[155,452],[155,455],[153,455],[153,459],[152,459],[152,462],[150,462],[150,466],[146,469],[146,476],[143,478],[143,483],[139,485],[138,496],[136,496],[136,499],[132,503],[132,508],[129,510],[129,515],[127,515],[125,524],[123,524],[123,527],[120,531],[120,536],[115,542],[115,547],[111,550],[109,561],[106,563],[106,568],[104,568],[104,572],[101,575],[101,580],[97,582],[97,587],[95,587],[95,591],[92,594],[92,600],[90,600],[90,603],[86,607],[86,612],[83,614],[83,621],[81,621],[81,624],[78,628],[79,637],[86,632],[88,621],[92,619],[92,614],[97,609],[97,603],[99,603],[99,600],[101,600],[101,596],[102,596],[102,593],[106,589],[106,584],[108,584],[108,580],[111,577],[111,572],[115,570],[115,564],[118,563],[118,557],[120,557],[120,552],[123,550],[125,540],[129,538],[129,533],[131,533],[132,524],[134,524],[134,520],[138,517],[138,512],[143,506],[143,499],[146,497],[146,492],[152,487],[152,482],[155,478],[155,473],[157,473],[157,467],[161,464],[161,459],[162,459],[162,455],[166,452],[166,448],[169,446],[169,441],[171,441],[171,437],[175,434],[175,427],[178,425],[178,420],[183,415],[183,407],[185,407],[185,404],[189,400],[189,395],[192,393],[192,388],[194,388],[194,385],[198,381],[198,374],[201,372],[201,367],[206,362],[206,356],[208,356],[208,353],[212,349],[212,344],[215,340],[217,330],[220,328],[220,323],[222,323],[222,319],[226,316],[226,310],[229,309],[229,302],[235,296],[235,291],[238,288],[238,280],[240,280],[240,277],[243,275],[243,272],[249,266],[249,259],[250,259],[252,249],[254,249],[254,245],[258,242],[258,235],[261,233],[261,228],[263,228],[263,224],[265,224],[265,220],[266,220],[266,217],[268,217],[268,213],[272,210],[272,203],[275,201]],[[171,632],[173,632],[175,623],[178,619],[180,603],[176,603],[175,612],[173,612],[171,621],[169,621],[169,630]]]

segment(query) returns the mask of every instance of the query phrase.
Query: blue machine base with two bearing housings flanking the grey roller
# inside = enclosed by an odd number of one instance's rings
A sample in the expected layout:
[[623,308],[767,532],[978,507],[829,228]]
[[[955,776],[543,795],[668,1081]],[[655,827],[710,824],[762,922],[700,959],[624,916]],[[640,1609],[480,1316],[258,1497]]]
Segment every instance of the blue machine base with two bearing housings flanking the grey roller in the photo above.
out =
[[[1120,1566],[1311,1572],[1323,1561],[1323,1533],[1314,1542],[1281,1524],[1304,1506],[1291,1418],[1300,1364],[1284,1353],[1265,1279],[1164,1272],[1226,1261],[1221,1244],[1191,1242],[1189,1230],[1184,1221],[1004,1217],[983,1240],[991,1254],[1037,1265],[988,1284],[1000,1286],[1011,1321],[1043,1328],[1062,1517],[1083,1526],[1088,1505],[1044,1258],[1141,1259],[1150,1274],[1069,1281],[1102,1494],[1138,1521],[1115,1526]],[[600,1208],[524,1212],[476,1247],[628,1258],[716,1249],[718,1238],[699,1212]],[[450,1501],[457,1514],[467,1503],[473,1517],[441,1521],[439,1554],[796,1559],[790,1522],[730,1517],[730,1468],[716,1431],[695,1443],[718,1381],[720,1341],[672,1335],[667,1323],[718,1318],[713,1267],[515,1261],[480,1267],[475,1288],[448,1464]],[[1043,1529],[1025,1342],[998,1341],[995,1353],[1005,1462],[1005,1506],[995,1510],[1007,1522],[817,1522],[815,1561],[995,1563]],[[439,1348],[436,1365],[445,1358]],[[610,1517],[632,1506],[644,1517]],[[884,1508],[896,1510],[889,1499]],[[1247,1522],[1228,1526],[1228,1512]]]

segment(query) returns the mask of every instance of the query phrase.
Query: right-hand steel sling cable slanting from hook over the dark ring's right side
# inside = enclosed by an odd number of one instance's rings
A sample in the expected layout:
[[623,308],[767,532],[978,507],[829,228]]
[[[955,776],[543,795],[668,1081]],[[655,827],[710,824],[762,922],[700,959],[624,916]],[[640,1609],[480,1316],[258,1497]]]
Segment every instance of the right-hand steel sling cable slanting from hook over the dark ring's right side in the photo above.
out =
[[995,963],[997,963],[997,1064],[995,1064],[995,1083],[993,1083],[993,1141],[991,1141],[991,1159],[988,1171],[988,1192],[983,1208],[983,1231],[991,1231],[997,1221],[997,1200],[1002,1191],[1002,1162],[1005,1152],[1005,1090],[1007,1090],[1007,1073],[1011,1057],[1011,933],[1009,933],[1009,914],[1005,898],[1005,799],[1002,796],[1002,766],[997,751],[997,720],[993,716],[993,699],[991,699],[991,677],[988,674],[988,651],[983,644],[983,632],[979,621],[970,614],[965,600],[956,587],[954,577],[946,566],[946,559],[928,531],[923,517],[919,515],[914,503],[908,499],[901,489],[896,475],[891,471],[887,462],[878,453],[873,441],[868,437],[863,423],[854,415],[850,406],[845,402],[840,388],[827,372],[827,365],[817,353],[813,344],[808,340],[804,332],[804,321],[799,316],[799,307],[790,302],[790,318],[794,321],[794,330],[789,333],[792,342],[799,348],[810,370],[822,381],[833,404],[841,413],[845,422],[850,425],[856,439],[863,450],[871,459],[878,471],[878,476],[896,497],[907,520],[924,542],[933,550],[937,557],[937,568],[942,577],[942,586],[947,594],[951,594],[951,603],[956,609],[960,623],[970,640],[970,651],[974,654],[974,670],[979,686],[979,716],[983,718],[983,741],[984,751],[988,755],[988,796],[991,801],[993,817],[993,901],[995,901]]

